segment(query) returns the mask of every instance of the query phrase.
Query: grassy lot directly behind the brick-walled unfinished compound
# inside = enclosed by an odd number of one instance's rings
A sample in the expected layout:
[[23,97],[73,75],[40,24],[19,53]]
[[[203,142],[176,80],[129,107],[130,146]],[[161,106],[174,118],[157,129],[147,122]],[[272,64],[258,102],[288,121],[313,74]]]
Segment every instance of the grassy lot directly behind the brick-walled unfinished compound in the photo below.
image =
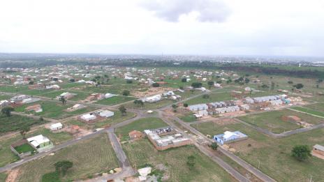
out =
[[156,129],[168,126],[168,124],[164,123],[159,118],[144,118],[134,121],[126,126],[116,129],[117,136],[121,135],[121,137],[125,137],[124,139],[128,139],[128,132],[133,130],[143,131],[147,129]]

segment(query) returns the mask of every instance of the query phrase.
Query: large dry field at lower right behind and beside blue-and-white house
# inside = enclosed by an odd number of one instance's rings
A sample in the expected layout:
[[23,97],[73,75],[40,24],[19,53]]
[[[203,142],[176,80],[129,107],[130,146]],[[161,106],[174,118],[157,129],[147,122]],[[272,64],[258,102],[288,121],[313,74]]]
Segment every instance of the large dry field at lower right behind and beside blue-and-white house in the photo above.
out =
[[[196,128],[196,125],[192,126]],[[277,181],[309,181],[309,175],[313,175],[313,181],[324,179],[323,160],[311,157],[300,162],[290,155],[295,145],[306,144],[309,147],[314,144],[324,145],[324,129],[302,132],[281,139],[267,137],[242,123],[228,125],[201,123],[198,130],[205,135],[215,135],[226,130],[240,130],[248,135],[249,139],[230,144],[236,149],[235,155],[254,167],[258,167],[260,161],[260,170]]]

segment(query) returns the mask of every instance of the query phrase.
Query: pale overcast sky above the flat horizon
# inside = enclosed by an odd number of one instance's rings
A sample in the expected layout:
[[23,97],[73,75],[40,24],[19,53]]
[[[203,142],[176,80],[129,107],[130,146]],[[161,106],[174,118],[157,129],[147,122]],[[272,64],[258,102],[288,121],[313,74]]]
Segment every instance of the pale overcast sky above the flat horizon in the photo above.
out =
[[324,0],[0,1],[0,52],[324,56]]

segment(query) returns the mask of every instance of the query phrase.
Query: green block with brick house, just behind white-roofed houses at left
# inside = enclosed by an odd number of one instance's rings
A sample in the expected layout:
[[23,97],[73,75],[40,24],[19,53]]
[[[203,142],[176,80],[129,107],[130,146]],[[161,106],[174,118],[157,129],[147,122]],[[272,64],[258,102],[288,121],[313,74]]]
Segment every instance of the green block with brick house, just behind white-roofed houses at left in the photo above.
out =
[[43,116],[45,118],[52,118],[52,119],[63,119],[69,116],[75,116],[96,109],[94,107],[84,107],[82,109],[78,109],[73,112],[66,112],[65,110],[68,107],[72,107],[72,105],[62,105],[59,102],[52,102],[52,101],[38,101],[36,103],[31,103],[27,105],[22,105],[20,107],[16,107],[15,111],[29,113],[25,111],[25,108],[30,105],[36,105],[36,104],[40,104],[42,106],[43,112],[38,112],[38,113],[31,112],[31,113],[35,114],[36,116]]

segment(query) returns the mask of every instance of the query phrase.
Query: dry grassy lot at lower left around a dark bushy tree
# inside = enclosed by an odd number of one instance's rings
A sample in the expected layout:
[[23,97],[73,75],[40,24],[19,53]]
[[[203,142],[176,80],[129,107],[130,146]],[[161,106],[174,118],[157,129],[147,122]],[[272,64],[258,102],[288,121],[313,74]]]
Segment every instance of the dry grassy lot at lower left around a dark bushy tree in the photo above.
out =
[[64,181],[86,179],[87,176],[118,167],[108,136],[103,134],[61,149],[54,156],[45,156],[22,165],[17,181],[40,181],[43,174],[54,172],[54,163],[60,160],[73,162]]

